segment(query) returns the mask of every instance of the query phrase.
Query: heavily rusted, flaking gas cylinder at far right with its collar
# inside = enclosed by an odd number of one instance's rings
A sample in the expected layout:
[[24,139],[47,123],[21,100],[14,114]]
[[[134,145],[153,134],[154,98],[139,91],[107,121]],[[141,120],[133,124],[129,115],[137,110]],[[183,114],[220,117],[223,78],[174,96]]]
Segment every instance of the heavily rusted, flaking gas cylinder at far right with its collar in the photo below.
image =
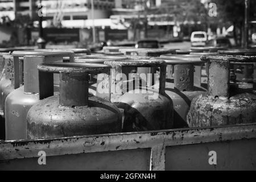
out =
[[256,94],[230,89],[230,61],[254,62],[255,56],[202,56],[209,60],[208,93],[192,100],[187,116],[189,127],[221,126],[256,121]]

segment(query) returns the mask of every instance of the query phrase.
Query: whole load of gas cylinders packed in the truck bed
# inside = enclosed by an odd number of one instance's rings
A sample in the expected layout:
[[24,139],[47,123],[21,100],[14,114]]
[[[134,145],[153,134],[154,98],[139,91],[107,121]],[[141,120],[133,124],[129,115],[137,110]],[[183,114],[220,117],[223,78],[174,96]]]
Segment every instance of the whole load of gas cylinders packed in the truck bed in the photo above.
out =
[[255,122],[253,55],[254,49],[221,47],[0,53],[0,137],[36,139]]

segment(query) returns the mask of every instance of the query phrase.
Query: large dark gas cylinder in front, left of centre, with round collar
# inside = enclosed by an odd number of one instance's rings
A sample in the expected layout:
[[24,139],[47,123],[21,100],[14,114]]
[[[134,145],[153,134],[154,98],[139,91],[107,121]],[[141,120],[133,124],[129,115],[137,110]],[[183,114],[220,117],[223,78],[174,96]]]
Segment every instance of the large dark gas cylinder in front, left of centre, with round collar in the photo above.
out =
[[[103,98],[88,94],[88,74],[109,70],[103,64],[48,63],[38,66],[40,101],[27,114],[27,137],[51,138],[117,133],[121,113]],[[60,94],[53,96],[53,73],[60,74]]]

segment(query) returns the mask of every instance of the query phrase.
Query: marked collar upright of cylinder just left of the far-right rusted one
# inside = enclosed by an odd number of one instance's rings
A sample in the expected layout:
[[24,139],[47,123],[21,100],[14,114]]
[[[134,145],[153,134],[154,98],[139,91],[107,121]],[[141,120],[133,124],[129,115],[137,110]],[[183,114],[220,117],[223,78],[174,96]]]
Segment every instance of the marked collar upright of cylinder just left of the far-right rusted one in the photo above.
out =
[[180,91],[193,91],[193,72],[192,64],[174,65],[174,88]]

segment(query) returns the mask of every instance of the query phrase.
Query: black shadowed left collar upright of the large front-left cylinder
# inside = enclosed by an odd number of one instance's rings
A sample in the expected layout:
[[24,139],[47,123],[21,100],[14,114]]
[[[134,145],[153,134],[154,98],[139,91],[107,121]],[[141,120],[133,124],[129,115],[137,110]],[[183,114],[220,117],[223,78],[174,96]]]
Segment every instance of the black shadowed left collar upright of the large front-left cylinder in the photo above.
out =
[[39,71],[39,99],[53,96],[53,73]]

